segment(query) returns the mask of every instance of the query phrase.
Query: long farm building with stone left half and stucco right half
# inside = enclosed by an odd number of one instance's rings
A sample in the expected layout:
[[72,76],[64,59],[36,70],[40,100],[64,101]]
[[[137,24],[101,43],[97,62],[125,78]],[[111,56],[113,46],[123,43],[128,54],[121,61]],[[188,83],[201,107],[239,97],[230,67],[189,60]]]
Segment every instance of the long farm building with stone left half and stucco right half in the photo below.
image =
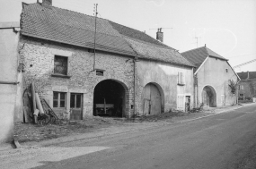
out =
[[61,118],[193,106],[194,65],[142,31],[97,18],[95,33],[95,17],[43,0],[22,4],[19,46],[24,89],[34,81]]

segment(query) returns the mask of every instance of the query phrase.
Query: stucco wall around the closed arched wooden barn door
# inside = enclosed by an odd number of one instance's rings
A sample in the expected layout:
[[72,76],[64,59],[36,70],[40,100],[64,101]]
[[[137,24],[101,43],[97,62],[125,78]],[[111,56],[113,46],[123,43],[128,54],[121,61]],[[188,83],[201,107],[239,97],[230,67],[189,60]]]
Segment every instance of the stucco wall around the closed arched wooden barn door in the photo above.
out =
[[[178,72],[184,73],[185,85],[179,86]],[[138,113],[143,114],[141,97],[146,84],[157,84],[158,88],[163,89],[164,99],[162,112],[177,109],[178,96],[190,96],[191,107],[193,106],[193,71],[192,68],[159,62],[140,60],[137,62],[137,101]],[[185,98],[184,98],[185,99]],[[185,100],[183,100],[185,105]],[[183,107],[184,108],[184,107]],[[182,109],[184,110],[184,109]]]

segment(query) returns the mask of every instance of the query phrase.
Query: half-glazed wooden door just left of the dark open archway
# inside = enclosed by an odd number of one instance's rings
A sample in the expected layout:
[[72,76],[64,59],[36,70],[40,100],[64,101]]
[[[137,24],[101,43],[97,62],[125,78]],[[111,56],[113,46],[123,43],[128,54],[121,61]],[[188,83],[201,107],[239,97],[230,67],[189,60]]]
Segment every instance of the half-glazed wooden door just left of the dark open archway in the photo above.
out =
[[71,93],[70,95],[70,120],[82,120],[82,94]]

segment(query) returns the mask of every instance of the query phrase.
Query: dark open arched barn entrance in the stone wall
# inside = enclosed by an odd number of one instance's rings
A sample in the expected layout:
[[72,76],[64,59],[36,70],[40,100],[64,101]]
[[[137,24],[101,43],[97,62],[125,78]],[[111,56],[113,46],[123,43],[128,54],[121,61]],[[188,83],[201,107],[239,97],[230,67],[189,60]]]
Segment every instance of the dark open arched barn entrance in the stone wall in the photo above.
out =
[[126,89],[116,80],[102,80],[94,88],[93,115],[123,117]]

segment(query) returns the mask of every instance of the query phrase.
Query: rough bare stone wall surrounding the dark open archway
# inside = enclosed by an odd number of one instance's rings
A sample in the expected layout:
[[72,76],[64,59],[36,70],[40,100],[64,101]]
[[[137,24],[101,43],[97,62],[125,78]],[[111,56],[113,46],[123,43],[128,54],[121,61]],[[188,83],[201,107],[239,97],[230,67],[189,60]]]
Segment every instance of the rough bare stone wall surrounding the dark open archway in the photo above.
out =
[[[103,76],[93,72],[93,53],[86,48],[59,45],[43,40],[22,37],[21,62],[25,65],[24,88],[30,88],[35,82],[36,91],[44,97],[49,106],[53,106],[53,91],[66,92],[66,108],[54,109],[59,116],[69,118],[70,93],[84,95],[83,116],[93,115],[93,92],[102,80],[116,80],[126,89],[126,115],[133,112],[134,64],[127,62],[128,56],[97,52],[95,68],[104,70]],[[68,57],[70,79],[52,77],[54,56]]]

